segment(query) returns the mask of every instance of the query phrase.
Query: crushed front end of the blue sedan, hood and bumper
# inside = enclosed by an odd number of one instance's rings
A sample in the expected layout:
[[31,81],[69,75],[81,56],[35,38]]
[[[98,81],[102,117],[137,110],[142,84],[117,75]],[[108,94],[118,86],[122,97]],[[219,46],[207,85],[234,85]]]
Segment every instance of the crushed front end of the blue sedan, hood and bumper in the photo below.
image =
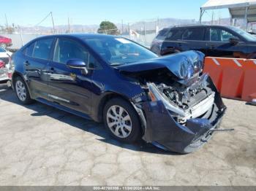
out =
[[202,53],[190,51],[146,65],[138,63],[137,69],[120,69],[138,79],[147,97],[132,101],[146,142],[189,153],[202,147],[219,128],[226,107],[211,77],[203,74],[203,58]]

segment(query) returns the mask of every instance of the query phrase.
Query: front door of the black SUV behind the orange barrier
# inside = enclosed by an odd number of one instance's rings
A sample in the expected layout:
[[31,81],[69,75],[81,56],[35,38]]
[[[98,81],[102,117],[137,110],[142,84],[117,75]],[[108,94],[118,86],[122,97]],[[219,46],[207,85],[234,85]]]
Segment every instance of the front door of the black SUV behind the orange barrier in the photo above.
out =
[[[239,39],[238,44],[230,43],[230,38]],[[245,42],[225,28],[209,27],[207,39],[208,50],[206,54],[208,56],[233,58],[236,57],[236,54],[244,54],[241,48],[244,47]]]

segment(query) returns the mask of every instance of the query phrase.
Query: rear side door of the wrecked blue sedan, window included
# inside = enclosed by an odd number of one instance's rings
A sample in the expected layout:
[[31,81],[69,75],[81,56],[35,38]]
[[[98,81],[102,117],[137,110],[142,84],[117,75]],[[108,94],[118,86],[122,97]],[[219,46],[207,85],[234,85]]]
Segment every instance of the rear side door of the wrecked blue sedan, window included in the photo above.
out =
[[38,39],[24,50],[23,60],[29,89],[35,98],[48,99],[48,63],[53,37]]

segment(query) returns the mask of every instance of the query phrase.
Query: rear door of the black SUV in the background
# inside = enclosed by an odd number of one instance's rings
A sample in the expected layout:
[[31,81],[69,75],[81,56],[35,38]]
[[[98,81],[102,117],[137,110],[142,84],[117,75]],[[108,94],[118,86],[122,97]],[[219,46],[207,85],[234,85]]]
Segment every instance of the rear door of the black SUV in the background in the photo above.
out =
[[205,41],[206,29],[204,27],[191,27],[187,28],[182,34],[182,49],[197,50],[206,53],[206,41]]

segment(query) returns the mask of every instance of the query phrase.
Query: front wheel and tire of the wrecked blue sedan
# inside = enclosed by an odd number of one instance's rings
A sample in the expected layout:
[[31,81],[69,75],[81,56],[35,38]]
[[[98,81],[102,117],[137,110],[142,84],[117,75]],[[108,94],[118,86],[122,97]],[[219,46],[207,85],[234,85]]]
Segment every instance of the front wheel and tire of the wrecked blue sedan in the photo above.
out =
[[138,114],[124,99],[113,98],[108,101],[103,109],[103,120],[111,136],[119,141],[131,144],[141,139]]

